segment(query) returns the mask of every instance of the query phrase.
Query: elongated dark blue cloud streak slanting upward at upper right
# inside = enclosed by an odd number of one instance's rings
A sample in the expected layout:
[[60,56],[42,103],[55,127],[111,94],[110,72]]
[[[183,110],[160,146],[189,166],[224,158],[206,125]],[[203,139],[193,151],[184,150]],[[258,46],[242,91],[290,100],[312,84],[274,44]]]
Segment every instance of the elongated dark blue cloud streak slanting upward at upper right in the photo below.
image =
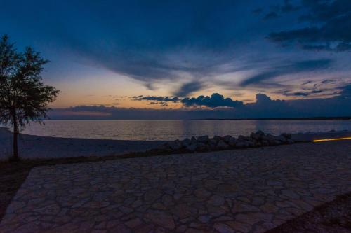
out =
[[240,83],[240,85],[241,87],[246,87],[248,85],[262,85],[264,84],[263,82],[265,80],[270,80],[279,76],[327,69],[329,66],[331,66],[332,62],[333,61],[331,59],[314,59],[295,62],[285,66],[277,66],[273,67],[269,71],[258,73],[254,76],[246,78]]

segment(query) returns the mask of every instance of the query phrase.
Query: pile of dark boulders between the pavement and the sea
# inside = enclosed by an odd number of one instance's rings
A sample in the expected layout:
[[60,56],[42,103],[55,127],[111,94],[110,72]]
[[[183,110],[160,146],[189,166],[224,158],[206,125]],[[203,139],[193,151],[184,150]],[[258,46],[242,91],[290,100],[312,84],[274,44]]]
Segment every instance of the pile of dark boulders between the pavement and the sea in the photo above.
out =
[[251,148],[260,146],[277,146],[282,144],[295,143],[291,139],[291,134],[281,134],[274,136],[272,134],[265,134],[262,131],[251,133],[250,136],[194,136],[191,139],[184,139],[182,141],[170,141],[164,143],[159,147],[159,150],[165,151],[211,151],[211,150],[225,150],[230,148]]

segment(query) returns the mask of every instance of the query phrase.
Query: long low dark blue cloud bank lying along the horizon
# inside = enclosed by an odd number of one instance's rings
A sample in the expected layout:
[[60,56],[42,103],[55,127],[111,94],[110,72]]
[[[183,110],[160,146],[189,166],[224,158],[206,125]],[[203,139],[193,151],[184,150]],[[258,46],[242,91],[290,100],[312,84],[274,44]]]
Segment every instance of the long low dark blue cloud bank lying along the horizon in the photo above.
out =
[[[52,119],[204,119],[204,118],[303,118],[351,115],[351,85],[342,87],[339,97],[326,99],[272,100],[266,94],[256,94],[256,102],[211,97],[185,98],[184,104],[212,108],[117,108],[107,106],[76,106],[56,108],[49,112]],[[230,106],[230,108],[216,108]]]

